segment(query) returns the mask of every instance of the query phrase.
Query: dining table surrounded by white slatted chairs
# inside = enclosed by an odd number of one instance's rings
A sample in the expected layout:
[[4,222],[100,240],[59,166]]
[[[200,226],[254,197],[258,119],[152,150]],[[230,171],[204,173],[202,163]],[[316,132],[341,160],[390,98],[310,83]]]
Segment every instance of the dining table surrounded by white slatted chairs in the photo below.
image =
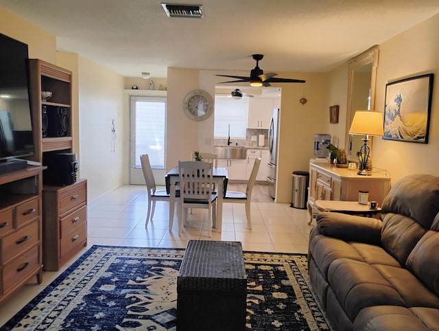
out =
[[[212,168],[212,181],[217,187],[217,212],[216,220],[213,220],[213,227],[218,231],[222,231],[222,203],[223,198],[226,196],[227,183],[228,183],[228,172],[226,168],[223,167],[213,167]],[[179,198],[176,195],[176,185],[180,181],[180,173],[178,171],[178,166],[172,168],[167,172],[165,176],[166,192],[169,194],[169,231],[172,229],[174,223],[174,208]],[[179,215],[179,214],[178,214]]]

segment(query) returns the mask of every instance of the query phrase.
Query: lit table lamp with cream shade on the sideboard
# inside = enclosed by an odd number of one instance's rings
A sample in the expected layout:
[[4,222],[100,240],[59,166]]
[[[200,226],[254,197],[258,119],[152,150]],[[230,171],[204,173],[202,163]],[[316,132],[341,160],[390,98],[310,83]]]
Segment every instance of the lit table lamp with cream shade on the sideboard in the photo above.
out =
[[358,174],[367,175],[367,164],[370,154],[368,141],[370,135],[382,136],[383,131],[383,115],[377,111],[356,111],[352,120],[349,135],[364,135],[361,139],[364,145],[359,149],[359,171]]

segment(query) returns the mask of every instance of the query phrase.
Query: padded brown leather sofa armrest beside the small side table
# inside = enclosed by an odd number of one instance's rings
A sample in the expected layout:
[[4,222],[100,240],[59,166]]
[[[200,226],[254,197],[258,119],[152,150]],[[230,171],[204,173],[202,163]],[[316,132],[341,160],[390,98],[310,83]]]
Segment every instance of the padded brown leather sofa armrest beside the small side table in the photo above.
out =
[[316,221],[324,236],[367,244],[381,242],[382,222],[377,218],[322,212],[318,214]]

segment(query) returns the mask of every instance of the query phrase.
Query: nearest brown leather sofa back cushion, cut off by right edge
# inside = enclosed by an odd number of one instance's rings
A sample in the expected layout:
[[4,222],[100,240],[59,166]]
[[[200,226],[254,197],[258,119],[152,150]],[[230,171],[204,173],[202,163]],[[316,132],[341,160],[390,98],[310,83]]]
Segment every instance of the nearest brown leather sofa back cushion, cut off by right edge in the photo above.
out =
[[436,295],[439,295],[439,232],[428,231],[407,259],[412,271]]

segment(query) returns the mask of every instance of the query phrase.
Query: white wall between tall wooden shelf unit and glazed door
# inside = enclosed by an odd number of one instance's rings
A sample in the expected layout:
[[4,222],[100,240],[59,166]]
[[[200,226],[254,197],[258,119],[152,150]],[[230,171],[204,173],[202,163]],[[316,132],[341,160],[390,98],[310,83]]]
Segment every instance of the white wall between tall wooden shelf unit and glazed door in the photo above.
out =
[[[79,57],[80,174],[88,181],[88,201],[124,184],[128,169],[130,114],[123,107],[123,77]],[[112,146],[112,120],[117,139]],[[128,147],[127,147],[128,146]]]

